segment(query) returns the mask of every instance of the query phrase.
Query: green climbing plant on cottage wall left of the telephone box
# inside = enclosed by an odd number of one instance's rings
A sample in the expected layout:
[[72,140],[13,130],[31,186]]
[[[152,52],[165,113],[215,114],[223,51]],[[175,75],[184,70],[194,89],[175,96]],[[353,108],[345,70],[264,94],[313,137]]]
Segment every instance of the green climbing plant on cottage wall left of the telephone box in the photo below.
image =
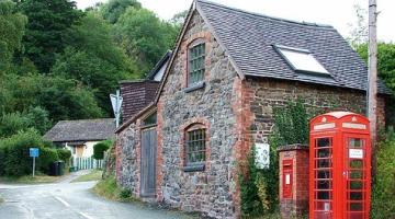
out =
[[307,112],[302,100],[289,101],[273,108],[273,131],[269,137],[270,166],[258,169],[256,147],[240,163],[239,184],[244,218],[268,216],[279,210],[279,158],[276,149],[283,145],[307,143],[308,120],[319,113]]

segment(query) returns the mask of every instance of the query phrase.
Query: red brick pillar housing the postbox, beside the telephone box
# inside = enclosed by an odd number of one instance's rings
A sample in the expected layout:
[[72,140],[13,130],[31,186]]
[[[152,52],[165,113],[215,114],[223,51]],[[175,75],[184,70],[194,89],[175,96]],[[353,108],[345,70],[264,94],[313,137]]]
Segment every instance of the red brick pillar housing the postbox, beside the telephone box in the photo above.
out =
[[[308,210],[308,150],[280,151],[280,210],[282,218],[301,216]],[[293,160],[292,198],[283,198],[283,160]]]

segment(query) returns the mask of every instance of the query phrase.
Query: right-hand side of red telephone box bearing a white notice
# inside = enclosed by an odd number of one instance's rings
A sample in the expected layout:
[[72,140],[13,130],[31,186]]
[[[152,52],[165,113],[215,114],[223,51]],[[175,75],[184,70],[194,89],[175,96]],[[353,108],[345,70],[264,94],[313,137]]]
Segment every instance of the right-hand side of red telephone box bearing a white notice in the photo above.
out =
[[345,217],[347,219],[369,219],[370,204],[370,139],[365,135],[345,134],[346,188]]

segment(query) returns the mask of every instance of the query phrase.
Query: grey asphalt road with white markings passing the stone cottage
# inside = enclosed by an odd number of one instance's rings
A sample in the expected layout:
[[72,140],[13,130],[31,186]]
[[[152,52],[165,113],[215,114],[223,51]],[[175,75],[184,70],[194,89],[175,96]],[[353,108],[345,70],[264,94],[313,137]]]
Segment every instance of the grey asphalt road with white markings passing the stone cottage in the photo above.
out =
[[143,204],[125,204],[92,194],[95,182],[4,185],[0,194],[0,219],[178,219],[191,218],[178,211]]

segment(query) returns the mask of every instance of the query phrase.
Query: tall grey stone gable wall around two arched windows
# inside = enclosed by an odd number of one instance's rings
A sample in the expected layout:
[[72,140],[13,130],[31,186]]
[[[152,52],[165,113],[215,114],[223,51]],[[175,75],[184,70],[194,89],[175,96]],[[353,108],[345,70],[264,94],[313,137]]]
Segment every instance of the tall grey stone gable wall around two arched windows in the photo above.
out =
[[[210,217],[235,218],[237,178],[233,147],[237,138],[232,106],[237,99],[233,94],[237,77],[224,49],[207,30],[195,13],[158,103],[158,154],[161,155],[158,200],[187,211],[203,211]],[[206,48],[205,87],[185,92],[188,46],[198,38],[205,42]],[[182,127],[194,122],[206,125],[210,160],[206,159],[204,171],[184,172]]]

